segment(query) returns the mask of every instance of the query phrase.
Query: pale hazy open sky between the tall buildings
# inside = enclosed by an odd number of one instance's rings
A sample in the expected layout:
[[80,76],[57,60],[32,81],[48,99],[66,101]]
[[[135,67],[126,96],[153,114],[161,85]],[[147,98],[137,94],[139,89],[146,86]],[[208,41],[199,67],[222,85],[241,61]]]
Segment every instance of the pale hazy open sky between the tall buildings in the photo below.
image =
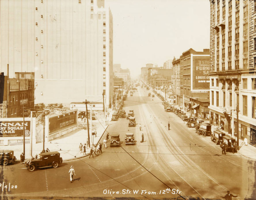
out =
[[139,75],[189,48],[210,47],[209,0],[105,0],[113,15],[113,63]]

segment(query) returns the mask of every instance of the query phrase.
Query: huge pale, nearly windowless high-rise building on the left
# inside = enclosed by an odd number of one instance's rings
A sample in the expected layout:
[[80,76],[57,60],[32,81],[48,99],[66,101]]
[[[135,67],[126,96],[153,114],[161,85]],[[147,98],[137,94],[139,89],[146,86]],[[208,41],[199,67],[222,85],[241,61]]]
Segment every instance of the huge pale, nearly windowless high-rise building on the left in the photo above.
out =
[[113,93],[113,19],[104,0],[1,0],[0,70],[35,72],[35,103]]

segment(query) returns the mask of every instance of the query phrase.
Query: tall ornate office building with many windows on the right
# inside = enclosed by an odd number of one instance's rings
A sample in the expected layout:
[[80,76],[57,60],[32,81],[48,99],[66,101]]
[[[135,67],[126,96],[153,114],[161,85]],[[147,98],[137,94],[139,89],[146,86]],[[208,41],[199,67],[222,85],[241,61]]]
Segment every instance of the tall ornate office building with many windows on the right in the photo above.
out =
[[255,145],[255,1],[211,0],[210,4],[210,117],[235,138],[238,123],[239,138]]

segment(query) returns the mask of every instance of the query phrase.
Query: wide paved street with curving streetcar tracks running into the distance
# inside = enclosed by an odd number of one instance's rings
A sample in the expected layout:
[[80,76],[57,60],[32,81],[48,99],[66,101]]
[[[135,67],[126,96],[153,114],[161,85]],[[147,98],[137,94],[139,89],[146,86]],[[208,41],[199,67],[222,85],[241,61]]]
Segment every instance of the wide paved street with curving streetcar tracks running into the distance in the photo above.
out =
[[[118,132],[120,147],[108,143],[94,159],[63,162],[55,169],[29,172],[20,163],[1,165],[1,199],[221,199],[227,190],[238,195],[233,199],[256,198],[255,161],[236,153],[221,155],[210,137],[199,136],[174,113],[166,113],[162,101],[157,96],[152,101],[148,92],[153,94],[139,86],[124,102],[126,114],[134,110],[136,127],[128,127],[126,118],[109,123],[105,135]],[[135,145],[125,145],[127,132],[134,133]],[[71,165],[76,174],[73,183],[68,174]]]

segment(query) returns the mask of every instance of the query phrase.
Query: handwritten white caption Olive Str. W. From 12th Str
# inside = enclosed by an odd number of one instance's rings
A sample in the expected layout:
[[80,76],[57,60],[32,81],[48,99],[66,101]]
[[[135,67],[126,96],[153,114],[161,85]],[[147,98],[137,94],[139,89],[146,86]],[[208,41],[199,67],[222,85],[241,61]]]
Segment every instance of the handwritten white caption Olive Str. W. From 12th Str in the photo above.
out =
[[181,195],[181,191],[179,189],[170,189],[166,188],[164,190],[160,190],[158,192],[154,191],[147,191],[147,190],[129,190],[129,189],[123,189],[122,191],[113,191],[112,189],[104,189],[103,194],[109,194],[109,195],[164,195],[164,194],[178,194]]

